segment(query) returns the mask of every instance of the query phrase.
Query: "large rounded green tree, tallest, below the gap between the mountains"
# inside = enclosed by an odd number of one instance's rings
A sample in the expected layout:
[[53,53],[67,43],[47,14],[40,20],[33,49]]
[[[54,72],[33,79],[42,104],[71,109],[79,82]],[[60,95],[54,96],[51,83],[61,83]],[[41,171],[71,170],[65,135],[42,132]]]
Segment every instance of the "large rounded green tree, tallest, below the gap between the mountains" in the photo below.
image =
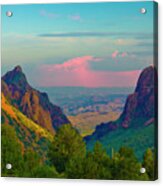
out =
[[63,125],[54,136],[48,156],[56,170],[64,172],[70,161],[84,158],[86,146],[79,133],[71,125]]

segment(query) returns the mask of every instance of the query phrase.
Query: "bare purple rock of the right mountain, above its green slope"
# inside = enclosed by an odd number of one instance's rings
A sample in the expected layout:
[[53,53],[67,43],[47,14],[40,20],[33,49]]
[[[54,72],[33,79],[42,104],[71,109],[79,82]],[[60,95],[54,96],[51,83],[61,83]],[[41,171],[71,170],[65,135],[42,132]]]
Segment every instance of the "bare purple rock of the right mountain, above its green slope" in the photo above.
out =
[[117,121],[103,123],[85,139],[99,139],[118,128],[136,128],[150,125],[157,118],[157,71],[147,67],[142,71],[133,94],[129,95],[124,110]]

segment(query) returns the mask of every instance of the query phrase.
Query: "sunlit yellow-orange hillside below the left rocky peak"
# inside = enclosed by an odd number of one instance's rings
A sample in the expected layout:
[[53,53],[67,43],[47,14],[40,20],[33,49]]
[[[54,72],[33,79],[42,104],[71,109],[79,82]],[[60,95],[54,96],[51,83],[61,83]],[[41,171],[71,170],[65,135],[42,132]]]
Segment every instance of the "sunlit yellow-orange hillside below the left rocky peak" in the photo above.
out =
[[53,136],[46,129],[34,123],[14,106],[10,105],[5,96],[1,95],[2,125],[10,125],[16,131],[23,149],[33,149],[46,158],[48,144]]

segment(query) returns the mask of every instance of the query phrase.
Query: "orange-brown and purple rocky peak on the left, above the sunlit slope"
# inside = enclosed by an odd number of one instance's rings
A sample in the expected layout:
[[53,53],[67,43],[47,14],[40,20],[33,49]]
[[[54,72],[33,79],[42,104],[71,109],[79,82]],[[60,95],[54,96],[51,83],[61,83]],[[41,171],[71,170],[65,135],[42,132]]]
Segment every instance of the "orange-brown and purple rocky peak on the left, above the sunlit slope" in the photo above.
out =
[[33,89],[20,66],[2,77],[2,92],[10,103],[35,123],[51,133],[70,123],[60,107],[53,105],[46,93]]

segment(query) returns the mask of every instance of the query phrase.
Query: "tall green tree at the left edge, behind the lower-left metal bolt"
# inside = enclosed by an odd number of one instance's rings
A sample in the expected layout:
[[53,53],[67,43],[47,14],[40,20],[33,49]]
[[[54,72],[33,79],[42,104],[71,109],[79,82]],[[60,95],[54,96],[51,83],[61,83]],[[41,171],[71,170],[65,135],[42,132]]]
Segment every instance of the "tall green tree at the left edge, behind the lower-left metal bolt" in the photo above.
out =
[[[1,127],[2,176],[19,176],[23,165],[23,148],[12,126],[3,124]],[[11,169],[6,169],[11,164]]]

